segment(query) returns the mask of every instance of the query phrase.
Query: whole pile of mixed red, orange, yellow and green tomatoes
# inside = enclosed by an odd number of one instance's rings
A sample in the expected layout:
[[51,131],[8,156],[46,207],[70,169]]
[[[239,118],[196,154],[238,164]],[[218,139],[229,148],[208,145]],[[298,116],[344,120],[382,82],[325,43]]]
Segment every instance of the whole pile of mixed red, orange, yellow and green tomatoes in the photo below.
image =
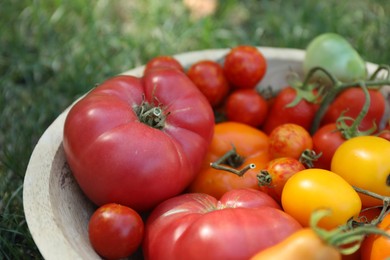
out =
[[97,205],[92,247],[107,259],[390,256],[390,81],[362,66],[324,34],[304,79],[278,93],[258,88],[267,59],[246,45],[188,68],[158,56],[141,78],[99,84],[69,111],[63,142]]

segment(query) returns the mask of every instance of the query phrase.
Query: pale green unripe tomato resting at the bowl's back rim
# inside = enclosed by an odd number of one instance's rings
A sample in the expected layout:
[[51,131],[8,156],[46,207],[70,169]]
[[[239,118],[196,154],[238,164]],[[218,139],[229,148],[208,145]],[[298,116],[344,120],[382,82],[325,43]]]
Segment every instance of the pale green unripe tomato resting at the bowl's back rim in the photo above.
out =
[[[335,33],[321,34],[307,46],[303,62],[305,75],[313,67],[324,68],[341,82],[367,77],[365,61],[344,37]],[[323,73],[316,73],[314,79],[323,76]]]

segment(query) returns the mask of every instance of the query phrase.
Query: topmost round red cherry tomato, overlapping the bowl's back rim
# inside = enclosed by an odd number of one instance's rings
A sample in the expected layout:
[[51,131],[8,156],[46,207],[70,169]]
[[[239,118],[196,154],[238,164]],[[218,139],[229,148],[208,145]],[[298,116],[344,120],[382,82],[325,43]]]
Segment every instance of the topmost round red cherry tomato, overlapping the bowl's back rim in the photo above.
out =
[[240,45],[228,52],[223,69],[234,88],[254,88],[267,71],[267,61],[256,47]]

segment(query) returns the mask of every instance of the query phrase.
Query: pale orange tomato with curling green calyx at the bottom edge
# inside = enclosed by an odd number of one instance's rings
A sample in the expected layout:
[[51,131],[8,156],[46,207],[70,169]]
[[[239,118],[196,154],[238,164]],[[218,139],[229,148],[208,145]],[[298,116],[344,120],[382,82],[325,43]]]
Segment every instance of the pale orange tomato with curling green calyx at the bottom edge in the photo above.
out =
[[[276,245],[265,248],[251,260],[361,260],[360,243],[365,235],[377,233],[373,226],[350,229],[340,225],[329,231],[318,226],[319,221],[331,214],[327,209],[313,212],[310,227],[292,233]],[[381,258],[382,259],[382,258]]]

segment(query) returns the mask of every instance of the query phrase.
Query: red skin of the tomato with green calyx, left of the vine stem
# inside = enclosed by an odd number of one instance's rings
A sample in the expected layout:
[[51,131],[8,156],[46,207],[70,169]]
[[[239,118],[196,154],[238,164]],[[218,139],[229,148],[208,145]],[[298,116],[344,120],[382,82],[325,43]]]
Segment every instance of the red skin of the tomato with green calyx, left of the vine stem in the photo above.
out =
[[307,131],[310,130],[319,105],[302,99],[295,106],[287,107],[296,96],[297,91],[291,86],[283,88],[276,95],[262,126],[266,134],[270,134],[277,126],[286,123],[297,124]]

